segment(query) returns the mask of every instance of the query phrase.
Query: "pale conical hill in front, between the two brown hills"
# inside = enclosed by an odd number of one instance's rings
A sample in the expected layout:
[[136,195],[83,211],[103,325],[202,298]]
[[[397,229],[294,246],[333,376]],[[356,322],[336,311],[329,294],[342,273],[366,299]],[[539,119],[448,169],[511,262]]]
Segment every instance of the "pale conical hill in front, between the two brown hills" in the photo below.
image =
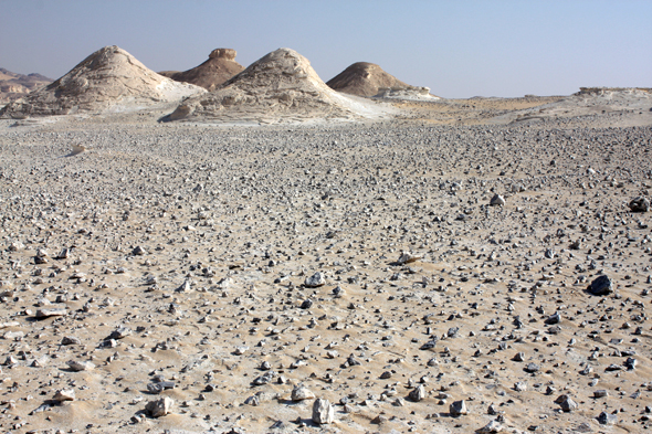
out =
[[278,49],[206,95],[186,99],[170,120],[307,121],[377,117],[378,106],[339,94],[294,50]]

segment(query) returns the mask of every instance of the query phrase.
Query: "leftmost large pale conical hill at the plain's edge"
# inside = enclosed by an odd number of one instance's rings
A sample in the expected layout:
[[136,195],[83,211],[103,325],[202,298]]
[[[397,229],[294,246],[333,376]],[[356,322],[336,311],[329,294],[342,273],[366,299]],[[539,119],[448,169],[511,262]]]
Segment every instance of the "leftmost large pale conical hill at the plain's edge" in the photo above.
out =
[[105,46],[46,87],[9,104],[3,117],[133,112],[204,93],[147,68],[118,46]]

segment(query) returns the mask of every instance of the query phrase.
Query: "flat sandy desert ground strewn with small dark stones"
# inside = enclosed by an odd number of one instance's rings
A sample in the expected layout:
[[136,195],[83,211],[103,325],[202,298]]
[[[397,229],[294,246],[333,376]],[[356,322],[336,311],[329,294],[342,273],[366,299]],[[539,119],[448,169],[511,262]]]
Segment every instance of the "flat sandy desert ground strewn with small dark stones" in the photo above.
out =
[[560,99],[0,121],[0,431],[646,432],[652,121]]

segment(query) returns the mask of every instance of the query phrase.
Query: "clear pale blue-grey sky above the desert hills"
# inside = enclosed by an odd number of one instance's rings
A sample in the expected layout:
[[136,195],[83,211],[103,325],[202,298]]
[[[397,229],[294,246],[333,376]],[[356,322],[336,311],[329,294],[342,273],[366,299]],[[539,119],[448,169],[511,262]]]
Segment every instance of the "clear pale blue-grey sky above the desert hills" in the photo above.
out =
[[154,71],[218,47],[355,62],[445,98],[652,87],[652,0],[0,0],[0,67],[51,78],[118,45]]

